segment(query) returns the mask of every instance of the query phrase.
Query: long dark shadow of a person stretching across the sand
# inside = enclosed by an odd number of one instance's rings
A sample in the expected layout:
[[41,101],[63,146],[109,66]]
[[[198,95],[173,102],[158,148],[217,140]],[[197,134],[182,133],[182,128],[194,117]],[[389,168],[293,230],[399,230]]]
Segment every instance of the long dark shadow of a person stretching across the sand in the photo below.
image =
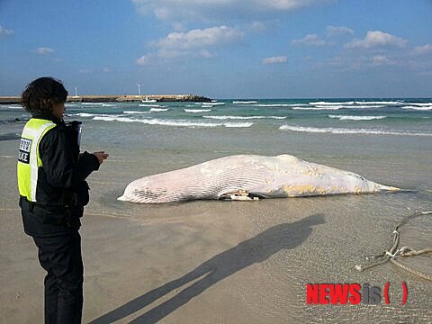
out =
[[314,214],[302,220],[292,223],[282,223],[272,228],[266,229],[254,238],[249,238],[232,247],[229,250],[221,252],[215,257],[205,261],[201,266],[196,267],[190,273],[153,289],[148,293],[125,303],[116,310],[110,311],[100,318],[91,321],[95,323],[112,323],[115,320],[121,320],[130,314],[143,309],[150,303],[157,301],[166,293],[175,291],[184,284],[193,282],[202,277],[191,286],[185,288],[174,297],[161,303],[157,307],[145,312],[130,323],[157,323],[158,320],[165,318],[167,315],[189,302],[193,297],[199,295],[213,284],[233,275],[238,271],[251,266],[255,263],[262,262],[271,257],[278,251],[287,248],[297,247],[311,235],[312,226],[324,223],[322,214]]

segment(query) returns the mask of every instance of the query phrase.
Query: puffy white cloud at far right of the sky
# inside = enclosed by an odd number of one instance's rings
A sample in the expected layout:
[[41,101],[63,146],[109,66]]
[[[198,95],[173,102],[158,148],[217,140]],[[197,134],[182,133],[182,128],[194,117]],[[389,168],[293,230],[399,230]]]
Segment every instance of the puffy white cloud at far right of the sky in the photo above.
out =
[[374,49],[383,47],[403,48],[407,40],[383,31],[367,31],[364,40],[352,40],[345,44],[346,49]]

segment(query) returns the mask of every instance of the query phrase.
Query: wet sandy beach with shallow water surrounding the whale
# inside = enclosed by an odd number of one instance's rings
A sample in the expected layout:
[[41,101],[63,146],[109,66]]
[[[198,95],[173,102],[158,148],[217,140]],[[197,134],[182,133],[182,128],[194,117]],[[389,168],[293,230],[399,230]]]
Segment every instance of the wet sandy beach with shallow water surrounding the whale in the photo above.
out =
[[[14,133],[23,124],[2,127]],[[83,149],[104,149],[111,157],[88,179],[91,202],[80,230],[83,322],[430,323],[430,282],[390,263],[355,269],[390,246],[392,227],[408,208],[432,210],[430,138],[266,131],[85,123]],[[43,320],[44,272],[23,233],[17,143],[0,141],[0,321],[35,323]],[[293,154],[418,191],[162,205],[115,200],[140,176],[244,153]],[[413,220],[402,244],[429,247],[431,225],[430,217]],[[430,274],[430,256],[406,262]],[[306,303],[306,284],[367,283],[383,290],[387,282],[390,304]],[[409,290],[405,305],[402,282]]]

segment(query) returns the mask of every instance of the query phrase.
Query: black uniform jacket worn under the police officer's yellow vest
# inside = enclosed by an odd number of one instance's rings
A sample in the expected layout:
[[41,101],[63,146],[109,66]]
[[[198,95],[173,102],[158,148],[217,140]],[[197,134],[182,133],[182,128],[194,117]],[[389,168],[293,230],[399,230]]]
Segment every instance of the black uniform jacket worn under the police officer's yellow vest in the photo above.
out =
[[38,116],[53,121],[57,127],[40,139],[36,201],[20,198],[24,231],[31,236],[66,234],[79,229],[88,202],[85,178],[99,168],[97,157],[79,154],[77,133],[54,116]]

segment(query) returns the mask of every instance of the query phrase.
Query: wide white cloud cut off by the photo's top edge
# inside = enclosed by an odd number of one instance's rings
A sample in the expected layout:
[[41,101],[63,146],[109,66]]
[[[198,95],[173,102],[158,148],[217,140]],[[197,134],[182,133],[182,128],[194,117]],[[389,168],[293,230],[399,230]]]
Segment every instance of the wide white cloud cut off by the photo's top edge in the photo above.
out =
[[195,18],[215,21],[225,18],[250,17],[273,12],[295,10],[315,4],[326,4],[333,0],[131,0],[141,14],[154,14],[158,19],[183,21]]

